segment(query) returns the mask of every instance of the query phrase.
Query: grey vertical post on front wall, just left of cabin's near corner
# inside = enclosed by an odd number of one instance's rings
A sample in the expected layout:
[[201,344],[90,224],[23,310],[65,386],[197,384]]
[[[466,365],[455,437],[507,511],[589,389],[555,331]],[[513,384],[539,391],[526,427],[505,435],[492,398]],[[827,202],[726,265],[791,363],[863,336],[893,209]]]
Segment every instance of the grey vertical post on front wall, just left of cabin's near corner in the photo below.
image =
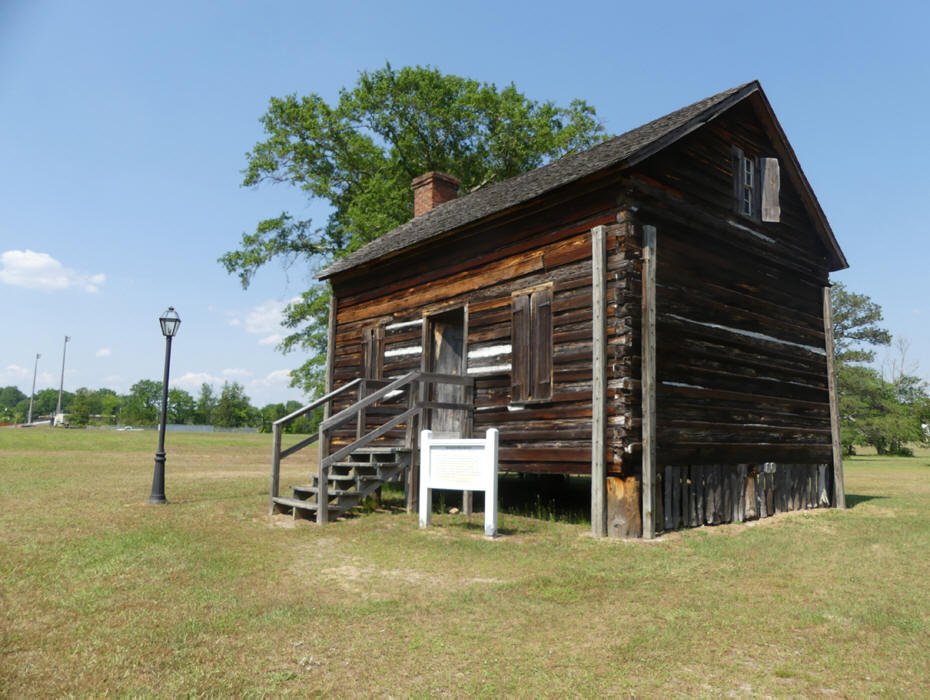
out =
[[607,536],[607,227],[591,229],[591,535]]

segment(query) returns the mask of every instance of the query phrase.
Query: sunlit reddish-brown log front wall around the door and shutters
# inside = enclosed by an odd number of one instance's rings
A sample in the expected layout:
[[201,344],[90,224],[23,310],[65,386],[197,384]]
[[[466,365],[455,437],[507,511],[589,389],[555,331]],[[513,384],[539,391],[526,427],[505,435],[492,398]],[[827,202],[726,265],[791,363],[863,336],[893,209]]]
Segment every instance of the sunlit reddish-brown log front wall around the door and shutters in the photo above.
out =
[[[359,376],[364,328],[383,325],[383,374],[390,379],[421,366],[425,314],[466,307],[466,372],[476,380],[474,434],[498,428],[504,471],[590,473],[591,229],[598,225],[608,227],[610,251],[608,352],[619,358],[629,343],[628,319],[615,321],[617,294],[631,266],[616,254],[625,233],[616,223],[616,191],[615,183],[587,188],[576,196],[577,206],[524,212],[516,222],[410,251],[393,264],[367,271],[365,279],[334,280],[335,385]],[[451,274],[434,275],[442,265]],[[552,291],[552,397],[517,404],[511,400],[511,298],[540,285]],[[633,385],[629,378],[626,384],[616,379],[620,363],[613,364],[608,391],[630,394]],[[346,399],[343,407],[349,403]],[[393,410],[401,410],[400,405]],[[613,404],[607,422],[614,432],[628,429]],[[398,429],[393,437],[402,432]],[[337,443],[354,435],[354,427],[343,433]],[[611,451],[608,460],[612,456]]]

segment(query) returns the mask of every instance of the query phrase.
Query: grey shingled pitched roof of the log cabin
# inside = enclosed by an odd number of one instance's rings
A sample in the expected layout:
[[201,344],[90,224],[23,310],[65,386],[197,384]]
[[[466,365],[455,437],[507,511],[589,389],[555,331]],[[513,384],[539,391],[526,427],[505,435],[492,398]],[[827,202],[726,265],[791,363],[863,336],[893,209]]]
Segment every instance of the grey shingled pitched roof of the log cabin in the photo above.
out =
[[[535,199],[547,192],[607,168],[620,165],[629,167],[703,126],[755,92],[762,94],[765,105],[774,120],[774,113],[771,113],[771,107],[768,105],[768,100],[765,99],[758,81],[739,85],[683,107],[664,117],[659,117],[632,131],[599,143],[586,151],[564,156],[541,168],[536,168],[509,180],[475,190],[464,197],[440,204],[425,214],[401,224],[380,238],[376,238],[363,248],[359,248],[346,257],[337,260],[319,274],[319,279],[327,279],[365,263],[388,257],[434,236]],[[775,123],[777,126],[777,121]],[[784,139],[781,128],[777,128]],[[800,173],[800,165],[797,163],[790,145],[787,144],[787,139],[784,140],[784,143],[794,161],[793,165]],[[803,180],[801,189],[806,189],[807,194],[813,198],[816,209],[815,214],[819,214],[819,216],[815,215],[815,218],[819,218],[825,226],[824,233],[826,238],[829,239],[827,241],[828,248],[832,248],[838,255],[839,267],[846,267],[846,260],[842,251],[840,251],[836,240],[833,238],[826,217],[820,210],[820,205],[810,190],[810,185],[803,173],[800,173],[800,178]]]

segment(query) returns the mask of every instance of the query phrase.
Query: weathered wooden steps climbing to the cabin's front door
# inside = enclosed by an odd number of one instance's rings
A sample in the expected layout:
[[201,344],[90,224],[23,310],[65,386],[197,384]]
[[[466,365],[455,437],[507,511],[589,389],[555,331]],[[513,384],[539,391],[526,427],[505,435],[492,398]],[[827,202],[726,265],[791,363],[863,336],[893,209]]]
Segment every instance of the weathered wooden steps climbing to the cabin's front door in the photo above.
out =
[[[409,466],[410,449],[404,447],[366,447],[353,452],[346,460],[336,462],[327,474],[328,519],[335,520],[345,515],[382,485],[399,479]],[[290,487],[293,497],[272,498],[273,512],[316,521],[319,510],[318,475],[312,474],[310,479],[309,484]]]

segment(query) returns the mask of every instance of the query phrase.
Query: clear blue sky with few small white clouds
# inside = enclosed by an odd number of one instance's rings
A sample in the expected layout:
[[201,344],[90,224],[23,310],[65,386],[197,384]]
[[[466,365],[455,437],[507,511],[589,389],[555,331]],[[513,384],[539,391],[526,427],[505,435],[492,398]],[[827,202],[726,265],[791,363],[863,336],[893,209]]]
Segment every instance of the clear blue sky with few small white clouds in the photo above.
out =
[[301,398],[275,343],[310,270],[243,291],[216,259],[262,218],[326,210],[240,187],[271,96],[332,101],[390,61],[587,100],[611,133],[758,78],[850,262],[930,376],[930,10],[856,2],[0,0],[0,386],[172,385]]

